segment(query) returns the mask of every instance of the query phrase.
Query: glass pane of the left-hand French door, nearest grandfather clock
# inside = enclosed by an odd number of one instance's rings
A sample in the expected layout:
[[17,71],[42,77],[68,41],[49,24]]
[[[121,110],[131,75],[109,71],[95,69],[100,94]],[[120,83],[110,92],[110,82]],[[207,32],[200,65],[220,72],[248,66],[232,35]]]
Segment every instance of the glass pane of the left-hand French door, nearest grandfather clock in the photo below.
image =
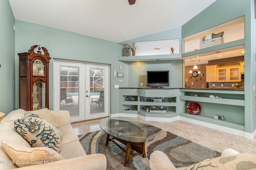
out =
[[70,111],[71,117],[79,116],[79,68],[60,67],[60,110]]

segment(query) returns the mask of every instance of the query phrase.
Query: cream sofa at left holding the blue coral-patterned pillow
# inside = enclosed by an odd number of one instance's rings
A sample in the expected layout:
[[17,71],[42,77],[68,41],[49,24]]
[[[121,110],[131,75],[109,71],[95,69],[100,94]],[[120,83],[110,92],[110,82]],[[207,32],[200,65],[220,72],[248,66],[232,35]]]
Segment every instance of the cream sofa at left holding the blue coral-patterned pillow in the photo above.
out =
[[[104,154],[91,154],[86,155],[84,148],[79,142],[79,138],[74,132],[70,123],[69,111],[49,111],[48,109],[41,109],[38,111],[28,111],[44,118],[48,123],[58,127],[58,130],[62,132],[63,137],[60,142],[59,154],[49,149],[48,147],[32,148],[31,145],[14,130],[14,120],[24,117],[23,109],[12,111],[0,122],[0,170],[7,169],[36,169],[36,170],[63,170],[63,169],[75,169],[75,170],[106,170],[106,156]],[[14,155],[10,155],[5,152],[10,148],[10,152]],[[5,150],[4,150],[5,149]],[[45,149],[47,149],[45,151]],[[24,151],[25,150],[25,151]],[[32,150],[32,152],[30,152]],[[43,151],[42,151],[43,150]],[[42,153],[42,155],[40,155]],[[43,156],[50,155],[48,161],[38,161]],[[10,157],[18,156],[17,159],[12,160]],[[26,166],[26,162],[22,161],[24,157],[31,159],[31,166]],[[18,164],[19,166],[17,166]],[[24,167],[22,167],[24,166]]]

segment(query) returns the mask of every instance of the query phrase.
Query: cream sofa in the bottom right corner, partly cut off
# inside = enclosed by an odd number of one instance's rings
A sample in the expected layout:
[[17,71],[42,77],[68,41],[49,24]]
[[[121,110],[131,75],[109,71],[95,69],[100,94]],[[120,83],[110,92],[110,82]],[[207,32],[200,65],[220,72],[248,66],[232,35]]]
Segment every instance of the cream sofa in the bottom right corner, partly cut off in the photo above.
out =
[[233,149],[225,149],[220,157],[203,160],[188,167],[175,168],[168,156],[159,150],[150,154],[151,170],[249,170],[256,169],[256,154],[240,154]]

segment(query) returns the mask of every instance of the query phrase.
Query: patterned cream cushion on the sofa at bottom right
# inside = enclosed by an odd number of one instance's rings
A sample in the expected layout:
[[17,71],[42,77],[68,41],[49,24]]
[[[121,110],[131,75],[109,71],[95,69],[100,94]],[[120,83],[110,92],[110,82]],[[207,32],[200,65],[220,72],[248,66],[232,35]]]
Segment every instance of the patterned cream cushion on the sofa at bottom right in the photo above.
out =
[[256,168],[256,154],[235,154],[230,156],[221,156],[212,159],[206,159],[197,164],[193,164],[177,170],[196,170],[203,168],[204,170],[248,170]]

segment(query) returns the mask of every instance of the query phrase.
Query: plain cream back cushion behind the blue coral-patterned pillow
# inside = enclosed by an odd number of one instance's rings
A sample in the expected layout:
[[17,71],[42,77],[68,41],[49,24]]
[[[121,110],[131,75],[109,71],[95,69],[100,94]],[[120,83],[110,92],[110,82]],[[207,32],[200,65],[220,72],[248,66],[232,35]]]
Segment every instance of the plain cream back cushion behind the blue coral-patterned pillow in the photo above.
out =
[[47,108],[36,110],[36,111],[28,111],[28,112],[39,115],[40,117],[44,118],[47,122],[49,122],[50,124],[52,124],[56,128],[60,127],[58,125],[58,123],[56,123],[52,112]]

